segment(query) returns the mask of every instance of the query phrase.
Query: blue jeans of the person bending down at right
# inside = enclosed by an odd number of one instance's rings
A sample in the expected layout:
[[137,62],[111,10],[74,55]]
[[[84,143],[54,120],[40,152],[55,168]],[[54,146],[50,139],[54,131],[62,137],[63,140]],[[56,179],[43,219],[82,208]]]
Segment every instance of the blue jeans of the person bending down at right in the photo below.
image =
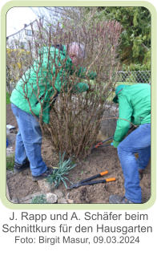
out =
[[[151,157],[151,124],[141,124],[118,146],[118,155],[123,169],[125,197],[141,203],[139,169],[145,169]],[[139,158],[135,158],[135,152]]]

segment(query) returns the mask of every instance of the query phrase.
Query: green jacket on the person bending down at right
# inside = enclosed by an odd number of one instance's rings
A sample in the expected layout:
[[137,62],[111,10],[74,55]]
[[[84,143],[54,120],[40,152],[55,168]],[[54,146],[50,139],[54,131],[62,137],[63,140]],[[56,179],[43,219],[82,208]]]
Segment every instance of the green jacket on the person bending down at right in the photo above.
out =
[[136,83],[125,85],[118,94],[119,120],[117,121],[113,145],[115,148],[127,135],[131,123],[151,123],[151,85]]

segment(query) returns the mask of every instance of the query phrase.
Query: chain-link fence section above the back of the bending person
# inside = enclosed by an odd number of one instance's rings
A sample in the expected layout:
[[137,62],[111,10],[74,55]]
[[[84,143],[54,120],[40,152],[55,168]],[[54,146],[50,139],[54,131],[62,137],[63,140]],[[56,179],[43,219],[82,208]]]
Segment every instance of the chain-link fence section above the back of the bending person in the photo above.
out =
[[151,83],[151,71],[119,71],[118,82]]

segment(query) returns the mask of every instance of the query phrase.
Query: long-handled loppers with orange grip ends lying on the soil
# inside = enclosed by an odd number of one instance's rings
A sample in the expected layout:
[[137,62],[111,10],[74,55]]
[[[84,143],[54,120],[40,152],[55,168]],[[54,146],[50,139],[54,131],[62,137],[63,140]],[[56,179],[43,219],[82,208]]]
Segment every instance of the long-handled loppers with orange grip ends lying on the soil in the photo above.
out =
[[104,171],[102,173],[96,174],[92,177],[89,177],[85,180],[79,181],[78,183],[75,183],[73,185],[71,185],[70,187],[68,187],[67,189],[74,189],[74,188],[78,188],[82,185],[94,185],[94,184],[98,184],[98,183],[106,183],[106,182],[110,182],[110,181],[115,181],[115,177],[111,177],[111,178],[107,178],[105,180],[98,180],[98,181],[91,181],[94,180],[98,177],[103,177],[104,175],[106,175],[108,173],[108,171]]

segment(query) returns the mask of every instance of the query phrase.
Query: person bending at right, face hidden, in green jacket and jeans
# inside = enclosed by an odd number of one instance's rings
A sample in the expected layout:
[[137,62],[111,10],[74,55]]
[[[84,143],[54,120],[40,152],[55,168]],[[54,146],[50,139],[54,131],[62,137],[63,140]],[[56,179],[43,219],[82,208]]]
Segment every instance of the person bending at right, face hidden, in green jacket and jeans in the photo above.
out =
[[[116,87],[113,101],[119,104],[119,119],[112,144],[118,150],[123,169],[125,195],[111,195],[109,202],[141,203],[140,177],[151,157],[151,85],[121,84]],[[127,136],[131,124],[138,128]],[[138,159],[135,157],[136,152],[139,154]]]

